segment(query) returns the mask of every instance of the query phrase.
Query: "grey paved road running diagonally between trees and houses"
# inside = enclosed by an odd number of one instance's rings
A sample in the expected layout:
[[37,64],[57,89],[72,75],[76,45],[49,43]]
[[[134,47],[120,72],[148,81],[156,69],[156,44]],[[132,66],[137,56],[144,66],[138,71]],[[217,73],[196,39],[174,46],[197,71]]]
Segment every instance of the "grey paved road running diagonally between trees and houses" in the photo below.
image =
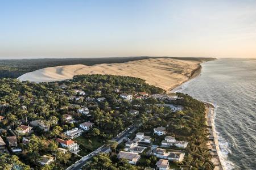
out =
[[[119,143],[121,143],[123,141],[123,139],[125,139],[130,133],[133,133],[135,130],[137,130],[137,126],[131,125],[131,126],[129,126],[129,128],[127,128],[126,130],[124,130],[121,133],[119,133],[117,135],[117,137],[113,138],[112,141],[115,141],[115,142],[117,142],[119,144]],[[95,150],[95,151],[91,152],[90,154],[82,157],[82,159],[80,159],[79,162],[76,162],[71,167],[68,167],[66,170],[79,170],[94,155],[97,155],[100,152],[108,152],[108,150],[109,150],[109,147],[103,145],[100,148],[97,148],[97,150]]]

